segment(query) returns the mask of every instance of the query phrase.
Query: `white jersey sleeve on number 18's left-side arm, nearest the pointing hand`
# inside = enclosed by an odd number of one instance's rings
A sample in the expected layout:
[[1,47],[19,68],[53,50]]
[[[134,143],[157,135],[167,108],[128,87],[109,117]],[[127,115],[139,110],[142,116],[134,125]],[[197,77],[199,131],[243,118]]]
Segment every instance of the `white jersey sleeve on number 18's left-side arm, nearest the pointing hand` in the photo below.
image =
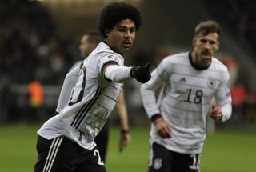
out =
[[170,72],[167,70],[167,63],[167,58],[165,58],[151,73],[150,81],[141,86],[142,102],[149,118],[154,114],[160,114],[155,92],[160,86],[167,83],[170,76]]

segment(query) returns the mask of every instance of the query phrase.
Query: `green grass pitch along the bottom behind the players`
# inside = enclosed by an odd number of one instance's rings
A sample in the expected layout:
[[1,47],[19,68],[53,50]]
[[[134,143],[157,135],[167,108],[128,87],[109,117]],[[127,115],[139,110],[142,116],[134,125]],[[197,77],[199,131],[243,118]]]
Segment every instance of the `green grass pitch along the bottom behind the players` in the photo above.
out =
[[[0,126],[0,171],[32,172],[37,154],[36,130],[39,126]],[[118,152],[119,130],[110,131],[107,156],[109,172],[146,172],[148,129],[131,129],[132,142]],[[255,172],[256,133],[218,130],[208,135],[202,154],[202,172]]]

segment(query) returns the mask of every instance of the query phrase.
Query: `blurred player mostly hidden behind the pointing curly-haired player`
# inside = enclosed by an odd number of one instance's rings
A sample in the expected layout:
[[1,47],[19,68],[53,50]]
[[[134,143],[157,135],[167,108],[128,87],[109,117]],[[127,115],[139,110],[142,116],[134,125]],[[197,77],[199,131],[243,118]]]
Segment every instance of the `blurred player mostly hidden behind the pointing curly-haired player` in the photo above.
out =
[[[96,48],[99,42],[102,41],[102,35],[98,32],[98,30],[88,30],[86,34],[82,35],[80,41],[80,52],[82,58],[89,56],[89,54]],[[64,80],[62,91],[58,98],[58,106],[55,114],[59,114],[60,111],[66,106],[69,102],[71,91],[76,82],[78,82],[79,71],[83,66],[83,61],[78,61],[71,67],[70,72],[66,74],[66,78]],[[80,66],[80,68],[74,68],[76,66]],[[125,146],[130,143],[130,133],[129,133],[129,125],[128,125],[128,117],[126,110],[126,102],[124,98],[123,90],[120,93],[120,96],[117,101],[118,108],[118,116],[121,122],[121,138],[119,142],[119,150],[122,150]],[[108,145],[109,138],[109,120],[106,121],[105,126],[103,126],[102,130],[98,133],[97,137],[94,139],[97,145],[97,149],[100,153],[103,162],[106,162],[106,150]]]

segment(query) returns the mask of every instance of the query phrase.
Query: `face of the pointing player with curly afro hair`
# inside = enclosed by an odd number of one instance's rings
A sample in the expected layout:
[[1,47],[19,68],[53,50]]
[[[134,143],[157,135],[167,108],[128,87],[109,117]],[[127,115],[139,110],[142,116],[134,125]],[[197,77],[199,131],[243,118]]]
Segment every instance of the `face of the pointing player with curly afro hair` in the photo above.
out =
[[112,30],[106,31],[106,43],[118,54],[125,54],[133,45],[135,25],[130,19],[118,22]]

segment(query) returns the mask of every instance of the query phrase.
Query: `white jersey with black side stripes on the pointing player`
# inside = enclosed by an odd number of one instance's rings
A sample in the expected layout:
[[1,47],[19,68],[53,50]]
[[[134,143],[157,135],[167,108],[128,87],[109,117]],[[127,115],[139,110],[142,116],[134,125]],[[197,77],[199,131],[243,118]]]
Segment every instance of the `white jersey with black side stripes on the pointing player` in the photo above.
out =
[[52,139],[63,135],[87,150],[96,146],[94,137],[114,109],[123,86],[104,78],[102,66],[108,62],[123,66],[122,56],[101,42],[84,60],[69,102],[38,130],[40,136]]

